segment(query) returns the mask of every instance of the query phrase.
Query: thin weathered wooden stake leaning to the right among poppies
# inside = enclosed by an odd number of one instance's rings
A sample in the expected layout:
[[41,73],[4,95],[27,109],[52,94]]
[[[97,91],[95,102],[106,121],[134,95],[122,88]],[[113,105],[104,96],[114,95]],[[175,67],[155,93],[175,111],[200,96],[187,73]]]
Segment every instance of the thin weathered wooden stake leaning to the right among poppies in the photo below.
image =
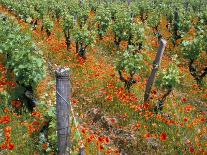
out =
[[157,73],[158,68],[160,66],[160,63],[161,63],[162,56],[163,56],[166,45],[167,45],[167,41],[165,39],[161,39],[160,40],[160,47],[157,51],[156,58],[153,62],[153,68],[152,68],[151,74],[150,74],[150,76],[147,80],[145,94],[144,94],[144,102],[148,102],[149,99],[150,99],[150,92],[151,92],[151,89],[152,89],[152,85],[154,83],[156,73]]

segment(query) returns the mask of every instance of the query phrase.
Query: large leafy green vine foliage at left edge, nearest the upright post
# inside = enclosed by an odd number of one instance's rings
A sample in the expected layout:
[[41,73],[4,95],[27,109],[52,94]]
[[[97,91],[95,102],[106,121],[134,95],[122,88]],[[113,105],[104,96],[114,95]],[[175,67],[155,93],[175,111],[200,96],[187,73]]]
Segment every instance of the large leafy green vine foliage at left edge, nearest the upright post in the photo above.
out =
[[6,66],[14,72],[20,84],[35,87],[45,75],[41,52],[16,24],[0,20],[0,53],[7,56]]

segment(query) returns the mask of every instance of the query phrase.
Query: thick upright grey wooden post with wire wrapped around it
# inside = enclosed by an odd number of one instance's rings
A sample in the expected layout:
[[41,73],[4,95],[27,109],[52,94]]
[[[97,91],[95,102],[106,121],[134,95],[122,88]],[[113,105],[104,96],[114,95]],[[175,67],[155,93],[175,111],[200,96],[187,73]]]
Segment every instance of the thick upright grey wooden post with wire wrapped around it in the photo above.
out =
[[[69,81],[69,69],[56,70],[56,115],[58,135],[58,155],[70,154],[69,117],[71,98],[71,84]],[[69,148],[69,150],[67,150]]]

